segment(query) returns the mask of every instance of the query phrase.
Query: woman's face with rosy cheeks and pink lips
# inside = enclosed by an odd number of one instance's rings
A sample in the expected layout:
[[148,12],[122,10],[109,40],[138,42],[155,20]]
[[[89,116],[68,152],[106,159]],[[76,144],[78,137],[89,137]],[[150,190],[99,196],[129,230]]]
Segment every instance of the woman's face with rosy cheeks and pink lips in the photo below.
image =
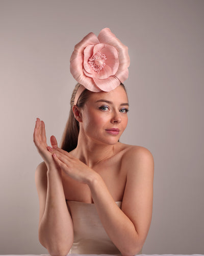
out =
[[126,128],[128,109],[122,86],[110,92],[92,93],[81,110],[80,129],[94,141],[115,144]]

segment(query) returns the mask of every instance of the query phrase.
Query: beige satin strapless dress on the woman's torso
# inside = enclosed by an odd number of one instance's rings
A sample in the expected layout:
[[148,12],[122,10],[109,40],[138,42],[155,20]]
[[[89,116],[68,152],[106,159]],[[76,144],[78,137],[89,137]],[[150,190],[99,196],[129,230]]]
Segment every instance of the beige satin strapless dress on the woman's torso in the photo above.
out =
[[[77,201],[66,202],[74,231],[73,245],[68,254],[121,255],[101,224],[94,204]],[[121,208],[121,201],[116,204]],[[142,254],[142,250],[138,254]]]

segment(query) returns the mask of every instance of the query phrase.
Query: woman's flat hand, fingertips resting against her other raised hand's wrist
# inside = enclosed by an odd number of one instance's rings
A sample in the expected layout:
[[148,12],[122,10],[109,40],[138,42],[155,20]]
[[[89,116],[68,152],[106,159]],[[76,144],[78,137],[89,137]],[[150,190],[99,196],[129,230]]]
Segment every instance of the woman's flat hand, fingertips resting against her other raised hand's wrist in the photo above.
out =
[[49,146],[47,147],[47,150],[52,153],[56,164],[70,178],[84,184],[89,184],[94,176],[97,175],[93,169],[80,161],[78,158],[69,154],[67,151],[62,150],[59,147],[52,148]]

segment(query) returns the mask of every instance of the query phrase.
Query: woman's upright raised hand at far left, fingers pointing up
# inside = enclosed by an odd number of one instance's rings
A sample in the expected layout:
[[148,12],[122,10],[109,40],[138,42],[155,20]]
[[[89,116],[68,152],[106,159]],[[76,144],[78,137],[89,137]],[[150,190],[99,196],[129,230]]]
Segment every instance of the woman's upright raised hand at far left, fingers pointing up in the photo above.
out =
[[[35,143],[35,146],[37,147],[38,153],[44,160],[47,169],[50,169],[51,167],[58,168],[55,161],[53,160],[52,154],[47,151],[47,142],[46,142],[46,134],[45,134],[45,124],[44,122],[39,118],[36,120],[35,124],[35,130],[33,134],[33,141]],[[51,136],[50,142],[53,146],[53,148],[58,147],[57,140],[54,136]]]

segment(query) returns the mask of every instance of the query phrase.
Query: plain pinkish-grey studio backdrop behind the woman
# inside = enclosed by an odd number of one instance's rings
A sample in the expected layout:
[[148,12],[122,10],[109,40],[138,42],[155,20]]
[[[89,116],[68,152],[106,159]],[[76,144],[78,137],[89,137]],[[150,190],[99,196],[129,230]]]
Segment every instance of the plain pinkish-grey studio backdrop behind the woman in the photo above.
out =
[[0,254],[38,242],[36,117],[61,140],[73,47],[109,27],[129,47],[129,124],[121,142],[155,159],[144,254],[204,254],[204,1],[0,1]]

